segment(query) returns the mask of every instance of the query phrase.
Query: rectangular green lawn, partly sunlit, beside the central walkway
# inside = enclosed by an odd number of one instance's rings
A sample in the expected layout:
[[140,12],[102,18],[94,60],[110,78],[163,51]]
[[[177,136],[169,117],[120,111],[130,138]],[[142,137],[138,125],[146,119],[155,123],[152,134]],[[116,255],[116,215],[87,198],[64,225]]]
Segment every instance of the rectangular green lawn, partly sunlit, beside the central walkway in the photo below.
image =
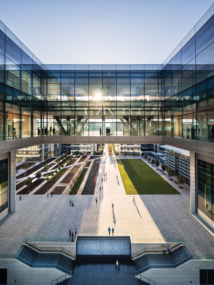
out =
[[180,194],[141,159],[117,159],[126,194]]

